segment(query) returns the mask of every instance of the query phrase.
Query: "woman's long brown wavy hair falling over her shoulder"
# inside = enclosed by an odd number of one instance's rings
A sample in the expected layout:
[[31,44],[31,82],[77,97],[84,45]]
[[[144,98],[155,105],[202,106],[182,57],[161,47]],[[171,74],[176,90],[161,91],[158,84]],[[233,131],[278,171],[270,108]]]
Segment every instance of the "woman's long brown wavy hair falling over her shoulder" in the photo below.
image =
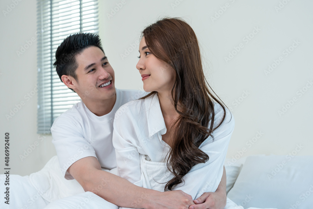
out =
[[[226,111],[208,89],[209,84],[203,74],[198,39],[184,20],[161,19],[147,26],[142,32],[142,37],[145,38],[151,53],[171,66],[176,74],[172,99],[179,117],[172,125],[170,135],[172,149],[168,153],[167,168],[174,177],[165,185],[164,191],[168,191],[183,181],[182,177],[192,166],[205,163],[209,159],[199,146],[206,138],[213,137],[212,132],[224,121]],[[211,87],[210,89],[212,90]],[[157,92],[152,91],[141,99],[155,93]],[[221,105],[224,110],[223,119],[215,128],[213,128],[213,101]]]

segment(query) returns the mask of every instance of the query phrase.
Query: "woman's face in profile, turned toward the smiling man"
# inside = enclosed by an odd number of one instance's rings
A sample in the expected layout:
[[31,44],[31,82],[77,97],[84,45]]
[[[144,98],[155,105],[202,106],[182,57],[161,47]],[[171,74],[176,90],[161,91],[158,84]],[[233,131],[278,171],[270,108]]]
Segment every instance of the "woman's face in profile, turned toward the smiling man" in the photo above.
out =
[[139,61],[136,68],[139,70],[146,92],[171,91],[175,79],[174,69],[166,62],[157,59],[146,45],[145,37],[139,44]]

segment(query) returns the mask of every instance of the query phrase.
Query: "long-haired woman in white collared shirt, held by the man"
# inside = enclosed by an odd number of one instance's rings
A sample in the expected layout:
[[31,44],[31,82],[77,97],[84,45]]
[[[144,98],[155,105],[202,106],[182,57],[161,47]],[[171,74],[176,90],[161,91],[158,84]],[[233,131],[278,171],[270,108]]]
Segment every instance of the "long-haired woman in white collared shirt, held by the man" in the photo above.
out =
[[215,191],[234,119],[206,85],[194,31],[179,18],[162,19],[143,30],[139,52],[136,67],[151,93],[114,120],[118,175],[193,199]]

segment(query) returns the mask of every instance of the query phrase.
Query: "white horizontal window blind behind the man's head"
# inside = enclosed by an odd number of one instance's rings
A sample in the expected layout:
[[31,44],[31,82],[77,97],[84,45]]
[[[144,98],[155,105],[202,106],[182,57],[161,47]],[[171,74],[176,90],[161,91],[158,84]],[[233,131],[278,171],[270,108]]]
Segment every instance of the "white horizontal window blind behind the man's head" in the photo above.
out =
[[55,51],[69,35],[98,34],[97,0],[38,0],[38,133],[50,133],[53,121],[80,97],[60,81],[53,67]]

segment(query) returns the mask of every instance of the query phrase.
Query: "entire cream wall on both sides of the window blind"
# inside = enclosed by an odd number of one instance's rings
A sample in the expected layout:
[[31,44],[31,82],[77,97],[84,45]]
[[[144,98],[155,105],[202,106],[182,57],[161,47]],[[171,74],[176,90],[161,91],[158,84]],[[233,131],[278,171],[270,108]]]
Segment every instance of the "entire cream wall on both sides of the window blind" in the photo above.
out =
[[[285,155],[295,150],[297,144],[303,146],[297,155],[312,155],[313,88],[308,88],[301,97],[297,91],[313,79],[310,66],[313,44],[310,8],[313,3],[309,0],[284,0],[288,3],[276,12],[275,6],[279,6],[280,1],[283,0],[126,0],[109,19],[106,14],[121,1],[100,0],[100,36],[105,53],[115,69],[116,86],[127,89],[142,87],[136,70],[136,41],[139,41],[142,29],[157,17],[183,17],[198,35],[209,83],[225,104],[232,107],[235,116],[236,127],[227,157],[235,156],[243,148],[246,148],[243,156]],[[212,21],[211,16],[226,3],[229,8]],[[37,83],[37,42],[19,57],[16,53],[21,45],[35,37],[36,1],[23,0],[4,16],[2,11],[10,4],[12,0],[0,1],[0,137],[3,139],[0,159],[4,164],[4,133],[9,132],[11,173],[29,175],[41,169],[55,150],[50,135],[44,136],[41,141],[41,136],[36,133],[37,94],[29,101],[24,98]],[[172,8],[172,5],[177,7]],[[254,27],[260,30],[246,43],[243,38]],[[293,40],[298,40],[300,44],[285,57],[283,51],[293,44]],[[240,43],[244,47],[226,63],[224,57]],[[135,49],[130,49],[131,53],[122,60],[121,54],[134,44]],[[280,56],[283,61],[265,76],[264,70]],[[249,94],[241,100],[243,91]],[[293,97],[297,101],[280,116],[277,111]],[[240,104],[236,105],[236,100],[240,100]],[[5,115],[21,101],[25,105],[7,120]],[[251,146],[246,144],[258,131],[264,133],[261,138]],[[39,145],[22,161],[19,155],[23,155],[24,150],[35,141]]]

